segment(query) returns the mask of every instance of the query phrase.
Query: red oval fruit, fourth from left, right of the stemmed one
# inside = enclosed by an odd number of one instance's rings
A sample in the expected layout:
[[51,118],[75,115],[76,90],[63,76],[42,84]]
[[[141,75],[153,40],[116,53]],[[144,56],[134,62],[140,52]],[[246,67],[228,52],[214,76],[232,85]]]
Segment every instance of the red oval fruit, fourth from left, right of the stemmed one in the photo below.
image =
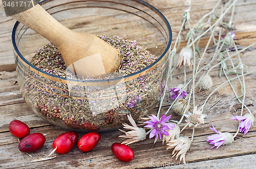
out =
[[101,138],[100,133],[90,132],[83,135],[78,141],[78,148],[83,152],[91,151],[96,147]]

